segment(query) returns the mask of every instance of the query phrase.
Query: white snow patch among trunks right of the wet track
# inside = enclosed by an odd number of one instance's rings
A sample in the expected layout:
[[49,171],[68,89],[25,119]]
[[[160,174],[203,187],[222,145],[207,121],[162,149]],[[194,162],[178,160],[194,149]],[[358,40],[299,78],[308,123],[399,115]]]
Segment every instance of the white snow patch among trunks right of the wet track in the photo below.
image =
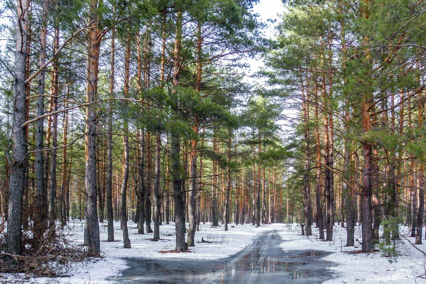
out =
[[[346,244],[346,229],[341,226],[334,226],[333,241],[327,242],[317,238],[318,229],[312,227],[312,236],[307,238],[300,234],[300,226],[284,225],[285,229],[279,232],[280,237],[284,241],[281,243],[282,249],[312,249],[332,252],[322,260],[337,263],[337,266],[328,269],[335,272],[337,278],[325,281],[325,284],[331,283],[392,283],[392,284],[411,284],[425,283],[422,278],[418,278],[425,273],[426,258],[414,249],[408,241],[399,241],[399,256],[396,258],[387,258],[383,256],[383,252],[367,253],[367,254],[349,254],[348,252],[360,250],[361,245],[355,241],[357,247]],[[408,232],[406,227],[401,227],[401,232]],[[362,242],[361,227],[355,227],[355,238]],[[408,238],[414,243],[414,238]],[[418,245],[420,249],[426,251],[426,245]],[[363,281],[363,282],[362,282]]]

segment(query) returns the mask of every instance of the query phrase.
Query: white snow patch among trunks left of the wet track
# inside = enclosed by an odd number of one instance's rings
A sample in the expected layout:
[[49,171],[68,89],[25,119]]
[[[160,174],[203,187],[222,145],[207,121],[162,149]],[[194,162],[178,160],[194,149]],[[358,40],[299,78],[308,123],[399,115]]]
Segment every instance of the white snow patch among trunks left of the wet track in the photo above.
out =
[[[68,226],[74,233],[75,241],[83,243],[83,222],[70,220]],[[180,258],[180,259],[220,259],[227,258],[244,249],[251,244],[262,232],[282,229],[283,224],[264,225],[256,228],[251,224],[237,225],[229,224],[229,231],[225,232],[223,226],[211,228],[210,223],[200,224],[200,231],[195,234],[195,247],[190,247],[190,253],[161,253],[175,249],[175,224],[163,223],[160,226],[160,241],[154,242],[153,233],[137,235],[138,229],[132,221],[127,223],[129,228],[130,249],[123,248],[123,233],[120,230],[120,222],[114,222],[114,239],[117,242],[105,242],[107,240],[107,222],[100,223],[101,252],[104,258],[97,261],[89,261],[75,267],[71,277],[55,278],[58,283],[92,284],[109,283],[107,278],[120,275],[127,268],[126,257],[144,258]],[[153,228],[153,223],[151,223]],[[232,228],[231,226],[235,226]],[[171,235],[171,236],[168,236]],[[212,243],[198,243],[201,241]],[[33,281],[41,283],[49,282],[49,278],[32,278]],[[56,283],[56,282],[55,282]]]

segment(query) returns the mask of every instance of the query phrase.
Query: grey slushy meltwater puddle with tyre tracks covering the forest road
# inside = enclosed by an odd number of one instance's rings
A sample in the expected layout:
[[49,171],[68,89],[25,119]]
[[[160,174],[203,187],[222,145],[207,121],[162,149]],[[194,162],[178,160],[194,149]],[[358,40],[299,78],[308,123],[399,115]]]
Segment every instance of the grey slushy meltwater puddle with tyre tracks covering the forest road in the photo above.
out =
[[129,269],[111,278],[118,283],[322,283],[332,278],[320,258],[329,252],[283,251],[269,232],[236,255],[220,260],[126,258]]

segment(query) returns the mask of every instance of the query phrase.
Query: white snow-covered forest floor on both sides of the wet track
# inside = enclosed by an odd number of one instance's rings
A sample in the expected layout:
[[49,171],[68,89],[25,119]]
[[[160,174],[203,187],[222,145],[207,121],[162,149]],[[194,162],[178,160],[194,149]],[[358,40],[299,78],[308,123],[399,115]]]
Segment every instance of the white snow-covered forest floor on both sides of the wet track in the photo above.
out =
[[[131,249],[123,248],[122,231],[119,222],[114,222],[116,242],[105,242],[107,239],[106,222],[100,224],[101,251],[103,257],[95,261],[73,264],[67,273],[70,277],[63,278],[29,278],[21,280],[26,283],[70,283],[70,284],[95,284],[111,283],[111,277],[120,275],[127,268],[126,261],[122,258],[175,258],[175,259],[221,259],[234,255],[244,249],[253,239],[262,232],[276,230],[283,242],[284,251],[297,250],[322,250],[332,252],[324,256],[322,260],[332,261],[337,265],[325,267],[335,272],[335,278],[325,283],[425,283],[424,278],[417,276],[425,273],[426,258],[417,251],[409,242],[402,240],[397,242],[399,256],[387,258],[383,252],[368,254],[349,254],[348,252],[359,250],[359,247],[345,247],[346,229],[335,226],[332,242],[317,239],[318,229],[312,228],[313,236],[301,235],[299,224],[269,224],[259,228],[251,224],[230,224],[230,231],[223,231],[223,226],[210,228],[210,224],[201,224],[200,232],[196,232],[196,246],[191,247],[191,253],[161,253],[175,247],[174,223],[160,226],[160,238],[158,242],[150,241],[153,234],[137,235],[136,224],[128,223]],[[359,241],[360,226],[355,228],[355,238]],[[401,233],[408,234],[405,227],[400,228]],[[71,220],[69,233],[75,242],[83,243],[83,222]],[[199,243],[201,237],[211,243]],[[414,238],[409,238],[414,242]],[[357,241],[355,243],[358,243]],[[426,251],[426,245],[418,246]],[[14,275],[15,277],[17,275]],[[23,276],[23,275],[22,275]],[[8,277],[0,278],[7,281]],[[16,278],[15,278],[16,279]],[[9,281],[11,278],[9,278]],[[364,282],[360,282],[364,281]],[[6,282],[7,283],[7,282]],[[10,282],[9,282],[10,283]]]

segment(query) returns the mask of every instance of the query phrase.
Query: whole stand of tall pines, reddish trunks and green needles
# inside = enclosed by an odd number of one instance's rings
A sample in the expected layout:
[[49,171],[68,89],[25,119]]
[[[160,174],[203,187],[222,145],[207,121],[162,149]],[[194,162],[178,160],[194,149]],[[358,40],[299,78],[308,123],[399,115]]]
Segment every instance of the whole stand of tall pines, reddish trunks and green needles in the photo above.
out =
[[176,252],[206,222],[422,243],[426,3],[286,0],[271,39],[256,3],[1,1],[3,267],[75,219],[88,256],[114,220],[125,248],[174,222]]

